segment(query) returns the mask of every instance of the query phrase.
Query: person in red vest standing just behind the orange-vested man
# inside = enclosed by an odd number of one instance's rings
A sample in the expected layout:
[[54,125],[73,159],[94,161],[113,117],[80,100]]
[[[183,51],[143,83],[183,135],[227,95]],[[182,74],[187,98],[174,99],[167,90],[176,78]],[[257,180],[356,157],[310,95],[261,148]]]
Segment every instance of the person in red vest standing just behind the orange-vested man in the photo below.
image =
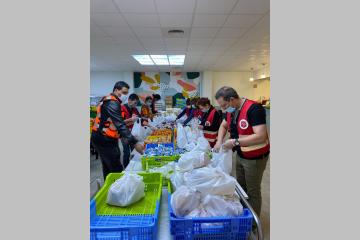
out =
[[[137,104],[139,103],[139,96],[135,93],[129,95],[127,103],[121,105],[121,111],[123,114],[124,121],[126,126],[131,131],[134,123],[140,117],[139,111],[136,109]],[[121,139],[123,145],[123,167],[126,168],[130,161],[130,153],[134,149],[131,144],[125,142]]]

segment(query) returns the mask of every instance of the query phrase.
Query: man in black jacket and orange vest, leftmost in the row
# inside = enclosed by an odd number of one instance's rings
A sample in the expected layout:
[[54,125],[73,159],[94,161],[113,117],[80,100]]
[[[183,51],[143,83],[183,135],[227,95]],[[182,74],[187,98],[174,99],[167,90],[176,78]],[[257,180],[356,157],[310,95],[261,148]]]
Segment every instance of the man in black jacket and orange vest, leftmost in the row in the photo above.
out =
[[119,138],[127,144],[134,145],[136,151],[140,153],[144,150],[143,145],[131,135],[122,117],[120,98],[128,94],[129,88],[127,83],[117,82],[113,92],[103,97],[97,108],[91,141],[100,155],[104,179],[109,173],[123,170],[120,162]]

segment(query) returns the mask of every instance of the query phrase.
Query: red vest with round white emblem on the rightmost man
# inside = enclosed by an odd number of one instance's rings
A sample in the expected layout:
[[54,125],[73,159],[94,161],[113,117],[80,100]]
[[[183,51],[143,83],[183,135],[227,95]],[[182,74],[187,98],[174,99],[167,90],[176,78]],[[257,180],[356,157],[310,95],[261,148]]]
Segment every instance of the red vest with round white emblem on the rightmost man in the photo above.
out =
[[[241,111],[239,113],[236,126],[237,126],[237,132],[241,136],[254,134],[253,128],[252,126],[250,126],[249,119],[247,118],[247,112],[253,104],[256,104],[256,102],[251,101],[249,99],[245,99],[245,103],[242,106]],[[231,123],[230,113],[227,113],[226,115],[226,122],[227,122],[228,130],[230,131],[230,123]],[[263,143],[253,146],[240,147],[240,148],[244,158],[256,158],[261,156],[262,154],[269,152],[270,143],[269,140],[267,139]]]

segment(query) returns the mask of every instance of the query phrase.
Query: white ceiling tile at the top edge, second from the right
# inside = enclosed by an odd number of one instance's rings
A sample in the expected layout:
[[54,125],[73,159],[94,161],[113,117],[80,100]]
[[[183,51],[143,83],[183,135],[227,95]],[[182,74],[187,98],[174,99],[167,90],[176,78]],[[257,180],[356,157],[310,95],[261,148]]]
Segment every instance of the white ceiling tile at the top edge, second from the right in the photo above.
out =
[[237,0],[198,0],[196,13],[228,14]]

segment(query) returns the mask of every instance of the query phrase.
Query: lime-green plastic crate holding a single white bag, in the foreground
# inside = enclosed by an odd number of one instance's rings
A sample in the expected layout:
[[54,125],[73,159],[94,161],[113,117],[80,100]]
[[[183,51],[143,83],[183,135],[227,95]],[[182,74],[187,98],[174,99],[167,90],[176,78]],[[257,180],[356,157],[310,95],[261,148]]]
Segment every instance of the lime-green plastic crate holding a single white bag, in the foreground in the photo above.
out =
[[156,202],[160,201],[162,191],[161,173],[138,173],[143,177],[145,183],[145,197],[140,201],[127,206],[111,206],[106,203],[108,190],[112,183],[121,178],[124,173],[110,173],[105,180],[103,187],[95,195],[96,214],[98,216],[128,216],[155,214]]

